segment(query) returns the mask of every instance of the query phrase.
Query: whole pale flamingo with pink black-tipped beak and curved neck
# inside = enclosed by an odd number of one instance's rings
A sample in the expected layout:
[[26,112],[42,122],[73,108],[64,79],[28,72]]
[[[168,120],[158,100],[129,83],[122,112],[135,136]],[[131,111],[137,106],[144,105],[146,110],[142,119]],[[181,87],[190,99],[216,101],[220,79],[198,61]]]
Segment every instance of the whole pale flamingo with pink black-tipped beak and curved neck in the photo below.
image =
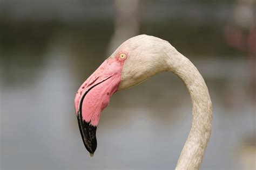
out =
[[207,86],[193,63],[168,41],[145,34],[123,42],[80,86],[75,111],[83,143],[96,151],[100,112],[111,96],[161,73],[172,72],[185,83],[192,100],[192,126],[176,169],[199,169],[212,130],[212,103]]

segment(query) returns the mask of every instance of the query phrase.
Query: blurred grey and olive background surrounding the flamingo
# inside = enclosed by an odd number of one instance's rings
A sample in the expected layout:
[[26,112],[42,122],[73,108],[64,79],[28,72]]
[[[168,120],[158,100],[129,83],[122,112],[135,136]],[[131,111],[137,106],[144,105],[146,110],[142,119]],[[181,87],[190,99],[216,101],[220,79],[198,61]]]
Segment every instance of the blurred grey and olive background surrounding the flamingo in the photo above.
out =
[[169,41],[203,75],[213,129],[201,169],[255,169],[253,0],[0,0],[1,169],[174,169],[191,127],[183,82],[161,73],[112,96],[91,158],[73,98],[124,40]]

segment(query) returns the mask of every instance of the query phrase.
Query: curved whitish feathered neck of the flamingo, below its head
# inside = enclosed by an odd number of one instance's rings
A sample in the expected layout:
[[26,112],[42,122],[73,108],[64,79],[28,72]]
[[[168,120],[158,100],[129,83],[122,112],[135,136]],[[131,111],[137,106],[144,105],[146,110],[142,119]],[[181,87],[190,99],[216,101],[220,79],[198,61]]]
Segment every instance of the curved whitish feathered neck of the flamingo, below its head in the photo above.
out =
[[212,130],[212,103],[207,86],[193,63],[171,46],[167,52],[169,71],[178,75],[190,93],[192,127],[176,169],[199,169]]

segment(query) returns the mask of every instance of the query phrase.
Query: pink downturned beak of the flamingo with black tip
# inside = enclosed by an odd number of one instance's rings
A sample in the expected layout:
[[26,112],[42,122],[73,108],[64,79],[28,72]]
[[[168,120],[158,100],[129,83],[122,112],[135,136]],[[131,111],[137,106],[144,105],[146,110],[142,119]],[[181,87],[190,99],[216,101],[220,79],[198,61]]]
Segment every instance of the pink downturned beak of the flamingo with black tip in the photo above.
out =
[[107,107],[117,91],[124,60],[118,57],[105,60],[82,84],[75,96],[75,110],[84,145],[91,154],[96,151],[96,130],[100,112]]

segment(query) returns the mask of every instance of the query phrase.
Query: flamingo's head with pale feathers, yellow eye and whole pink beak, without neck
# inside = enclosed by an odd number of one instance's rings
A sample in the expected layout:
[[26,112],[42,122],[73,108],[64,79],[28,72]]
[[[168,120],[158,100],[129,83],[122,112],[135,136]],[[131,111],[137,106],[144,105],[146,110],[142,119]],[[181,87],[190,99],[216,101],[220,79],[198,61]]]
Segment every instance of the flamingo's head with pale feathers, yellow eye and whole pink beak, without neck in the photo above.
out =
[[97,147],[100,112],[116,91],[135,86],[166,70],[165,44],[169,42],[152,36],[130,38],[80,86],[75,96],[75,110],[83,143],[90,155]]

